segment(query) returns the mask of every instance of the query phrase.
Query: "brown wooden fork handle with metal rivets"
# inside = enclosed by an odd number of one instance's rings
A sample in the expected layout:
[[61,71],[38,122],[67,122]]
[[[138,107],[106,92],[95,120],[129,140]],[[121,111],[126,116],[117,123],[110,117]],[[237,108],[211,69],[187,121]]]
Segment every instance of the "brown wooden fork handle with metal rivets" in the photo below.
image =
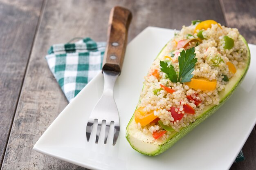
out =
[[121,73],[132,13],[123,7],[113,7],[108,22],[108,42],[102,70]]

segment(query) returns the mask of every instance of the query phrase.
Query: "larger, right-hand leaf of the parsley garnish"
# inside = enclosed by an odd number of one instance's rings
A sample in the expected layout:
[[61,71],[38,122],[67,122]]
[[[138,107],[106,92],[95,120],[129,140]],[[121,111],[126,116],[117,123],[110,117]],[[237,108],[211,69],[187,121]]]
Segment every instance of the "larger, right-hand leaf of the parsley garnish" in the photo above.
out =
[[195,70],[195,63],[198,61],[195,58],[195,48],[182,50],[179,57],[179,66],[180,66],[180,73],[178,82],[190,82],[193,74],[191,74]]

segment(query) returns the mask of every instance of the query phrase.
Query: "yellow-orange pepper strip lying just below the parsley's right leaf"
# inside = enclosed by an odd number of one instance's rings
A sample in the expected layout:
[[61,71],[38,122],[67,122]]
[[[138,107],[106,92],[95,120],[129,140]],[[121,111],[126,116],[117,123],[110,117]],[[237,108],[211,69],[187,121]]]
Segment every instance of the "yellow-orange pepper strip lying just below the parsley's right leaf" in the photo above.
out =
[[217,82],[216,80],[209,81],[207,79],[195,79],[192,78],[191,82],[187,82],[186,85],[188,85],[190,88],[194,88],[196,90],[205,90],[205,91],[213,91],[216,89]]

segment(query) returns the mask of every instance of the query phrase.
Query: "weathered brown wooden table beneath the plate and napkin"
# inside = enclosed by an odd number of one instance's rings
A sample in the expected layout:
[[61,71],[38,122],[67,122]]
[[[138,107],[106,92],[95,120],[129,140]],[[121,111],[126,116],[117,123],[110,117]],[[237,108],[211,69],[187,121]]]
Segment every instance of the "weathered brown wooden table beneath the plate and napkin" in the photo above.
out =
[[[106,41],[115,5],[132,11],[129,41],[147,26],[180,29],[213,19],[256,44],[255,0],[0,0],[1,170],[84,169],[32,150],[68,104],[44,56],[52,44],[74,37]],[[245,161],[231,170],[256,169],[255,128],[243,153]]]

